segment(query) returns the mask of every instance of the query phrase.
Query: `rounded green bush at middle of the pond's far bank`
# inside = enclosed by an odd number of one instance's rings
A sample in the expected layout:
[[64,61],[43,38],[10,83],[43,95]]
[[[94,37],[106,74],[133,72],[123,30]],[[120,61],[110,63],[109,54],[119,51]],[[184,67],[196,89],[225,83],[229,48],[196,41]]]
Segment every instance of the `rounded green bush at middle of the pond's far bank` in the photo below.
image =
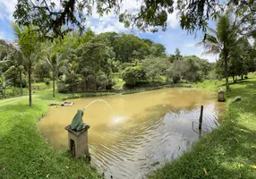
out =
[[126,85],[134,86],[138,81],[145,81],[146,72],[143,70],[141,65],[138,66],[129,66],[125,68],[124,72],[122,72],[123,81],[125,81]]

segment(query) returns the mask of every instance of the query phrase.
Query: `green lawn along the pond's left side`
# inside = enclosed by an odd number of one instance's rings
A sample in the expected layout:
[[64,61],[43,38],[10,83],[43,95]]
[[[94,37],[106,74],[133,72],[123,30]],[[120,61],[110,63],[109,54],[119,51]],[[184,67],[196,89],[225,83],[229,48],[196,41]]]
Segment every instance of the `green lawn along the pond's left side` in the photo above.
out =
[[59,102],[50,97],[50,90],[36,92],[33,107],[28,107],[27,97],[0,101],[0,178],[99,177],[87,162],[52,149],[41,136],[38,119],[47,112],[49,103]]

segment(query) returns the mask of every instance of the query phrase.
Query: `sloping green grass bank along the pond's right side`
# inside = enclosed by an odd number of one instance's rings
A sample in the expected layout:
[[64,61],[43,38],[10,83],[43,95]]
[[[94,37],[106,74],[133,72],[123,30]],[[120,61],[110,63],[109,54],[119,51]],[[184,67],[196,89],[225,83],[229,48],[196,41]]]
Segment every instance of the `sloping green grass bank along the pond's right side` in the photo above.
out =
[[[209,81],[197,86],[217,89]],[[236,96],[242,101],[232,103]],[[229,97],[221,126],[149,178],[256,178],[256,78],[231,85]]]

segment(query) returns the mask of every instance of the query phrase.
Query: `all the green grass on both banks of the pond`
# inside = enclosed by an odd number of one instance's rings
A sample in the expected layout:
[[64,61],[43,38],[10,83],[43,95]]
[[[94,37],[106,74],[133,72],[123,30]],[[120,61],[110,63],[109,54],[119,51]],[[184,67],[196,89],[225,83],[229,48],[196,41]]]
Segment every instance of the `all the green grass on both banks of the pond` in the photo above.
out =
[[[194,86],[216,91],[223,82],[204,81]],[[231,103],[236,96],[242,101]],[[221,126],[150,178],[256,178],[256,78],[231,85],[229,97]],[[84,158],[71,158],[67,151],[53,149],[39,132],[37,122],[48,105],[65,98],[73,95],[52,98],[52,90],[47,89],[33,93],[33,107],[28,107],[28,97],[0,100],[0,178],[100,177]]]

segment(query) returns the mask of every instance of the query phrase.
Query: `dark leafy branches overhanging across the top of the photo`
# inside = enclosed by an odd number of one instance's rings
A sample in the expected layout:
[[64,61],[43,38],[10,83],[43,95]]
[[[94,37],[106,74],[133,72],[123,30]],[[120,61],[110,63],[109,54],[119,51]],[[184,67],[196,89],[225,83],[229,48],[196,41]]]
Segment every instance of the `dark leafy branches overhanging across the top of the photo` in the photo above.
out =
[[[113,11],[119,14],[119,21],[124,22],[125,27],[136,26],[139,30],[158,31],[158,28],[166,30],[167,17],[173,13],[174,0],[143,0],[139,11],[120,12],[124,6],[123,0],[60,0],[56,7],[53,0],[18,0],[13,17],[19,25],[34,25],[48,38],[64,37],[64,34],[78,26],[84,29],[86,18],[92,14],[93,7],[97,13],[103,15]],[[242,3],[239,3],[242,2]],[[255,13],[253,0],[178,0],[177,9],[180,16],[181,27],[190,32],[206,30],[209,19],[216,19],[223,12],[226,5],[234,5],[235,8],[249,6]],[[252,16],[252,15],[251,15]]]

